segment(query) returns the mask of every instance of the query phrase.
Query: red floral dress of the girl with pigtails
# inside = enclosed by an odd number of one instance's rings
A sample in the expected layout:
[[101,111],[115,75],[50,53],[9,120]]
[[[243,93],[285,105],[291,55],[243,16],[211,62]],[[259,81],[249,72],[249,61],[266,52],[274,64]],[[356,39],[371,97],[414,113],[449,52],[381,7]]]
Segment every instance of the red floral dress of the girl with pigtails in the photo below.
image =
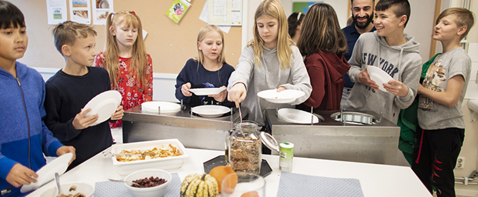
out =
[[[95,65],[104,68],[104,52],[100,52],[95,58]],[[142,89],[142,82],[137,79],[137,74],[134,69],[131,69],[131,58],[119,57],[118,60],[118,74],[116,80],[118,87],[114,88],[111,83],[111,90],[116,90],[121,93],[121,105],[124,110],[136,107],[143,102],[153,100],[153,64],[151,57],[148,54],[148,68],[146,69],[146,89]],[[109,123],[110,128],[121,127],[121,120],[115,123]]]

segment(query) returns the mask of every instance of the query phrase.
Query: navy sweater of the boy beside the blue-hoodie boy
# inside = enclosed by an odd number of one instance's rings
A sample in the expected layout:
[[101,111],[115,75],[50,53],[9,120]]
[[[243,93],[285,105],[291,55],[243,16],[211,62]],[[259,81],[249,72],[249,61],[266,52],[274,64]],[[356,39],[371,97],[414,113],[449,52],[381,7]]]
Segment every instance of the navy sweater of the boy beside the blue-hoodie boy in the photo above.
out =
[[[72,168],[113,144],[108,122],[76,130],[73,119],[88,101],[110,90],[108,72],[102,67],[88,67],[83,76],[69,75],[59,70],[45,84],[45,124],[63,144],[76,149]],[[85,109],[86,110],[86,109]]]

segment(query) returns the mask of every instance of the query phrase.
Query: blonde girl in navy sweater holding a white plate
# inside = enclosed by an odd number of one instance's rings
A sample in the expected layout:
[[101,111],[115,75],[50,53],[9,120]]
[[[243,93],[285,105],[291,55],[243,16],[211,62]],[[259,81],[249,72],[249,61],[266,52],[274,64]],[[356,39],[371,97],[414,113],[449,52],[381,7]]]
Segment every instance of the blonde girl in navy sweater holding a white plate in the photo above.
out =
[[[229,76],[234,67],[226,63],[224,33],[215,25],[205,25],[196,43],[198,57],[186,62],[176,78],[176,99],[190,106],[215,104],[232,107],[226,100]],[[216,95],[193,95],[191,88],[224,88]]]

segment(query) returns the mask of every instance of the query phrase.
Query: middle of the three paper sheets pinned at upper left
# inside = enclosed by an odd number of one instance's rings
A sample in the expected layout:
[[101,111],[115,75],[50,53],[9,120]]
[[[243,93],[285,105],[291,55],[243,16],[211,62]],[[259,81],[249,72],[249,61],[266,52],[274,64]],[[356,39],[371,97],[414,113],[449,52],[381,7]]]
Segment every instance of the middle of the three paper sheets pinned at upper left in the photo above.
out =
[[90,0],[69,0],[70,20],[91,25]]

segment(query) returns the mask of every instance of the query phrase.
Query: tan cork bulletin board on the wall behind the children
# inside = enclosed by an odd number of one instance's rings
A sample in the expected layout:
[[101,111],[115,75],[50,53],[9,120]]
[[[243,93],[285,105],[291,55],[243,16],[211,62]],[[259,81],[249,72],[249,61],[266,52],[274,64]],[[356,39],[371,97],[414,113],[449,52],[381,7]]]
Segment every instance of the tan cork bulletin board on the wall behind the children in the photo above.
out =
[[[153,72],[177,74],[189,58],[197,56],[197,36],[201,27],[206,25],[199,19],[205,1],[191,0],[191,7],[178,24],[165,14],[173,0],[114,0],[114,11],[133,10],[141,19],[143,29],[148,32],[145,43],[146,51],[153,59]],[[19,61],[30,67],[65,66],[65,60],[54,47],[53,25],[47,23],[46,0],[10,2],[24,13],[29,37],[27,52]],[[93,26],[98,32],[96,51],[100,52],[104,50],[106,26]],[[226,61],[236,66],[242,50],[241,27],[231,27],[224,36]]]

